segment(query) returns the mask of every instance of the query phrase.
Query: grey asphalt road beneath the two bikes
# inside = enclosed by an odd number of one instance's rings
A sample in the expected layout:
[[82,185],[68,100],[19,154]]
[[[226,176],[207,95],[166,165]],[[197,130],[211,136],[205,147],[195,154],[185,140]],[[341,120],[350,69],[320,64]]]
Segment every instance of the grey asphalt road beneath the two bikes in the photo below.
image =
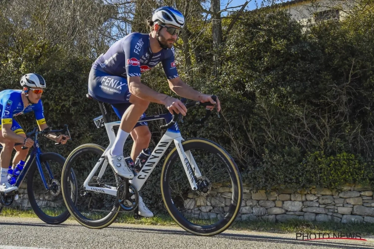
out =
[[296,234],[238,232],[226,230],[214,237],[200,237],[179,227],[112,224],[88,229],[75,221],[52,226],[38,219],[0,217],[0,249],[374,249],[374,238],[353,240],[296,240]]

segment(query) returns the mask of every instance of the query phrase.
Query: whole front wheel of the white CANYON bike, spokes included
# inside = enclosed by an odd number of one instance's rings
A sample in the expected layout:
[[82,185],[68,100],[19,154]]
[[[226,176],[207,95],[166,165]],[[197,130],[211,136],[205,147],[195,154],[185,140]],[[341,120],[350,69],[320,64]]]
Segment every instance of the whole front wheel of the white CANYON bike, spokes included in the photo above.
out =
[[[189,164],[201,176],[192,191],[177,148],[165,159],[161,191],[166,209],[187,232],[213,236],[225,231],[239,213],[243,186],[231,156],[218,144],[201,138],[182,142]],[[192,169],[193,172],[193,169]]]

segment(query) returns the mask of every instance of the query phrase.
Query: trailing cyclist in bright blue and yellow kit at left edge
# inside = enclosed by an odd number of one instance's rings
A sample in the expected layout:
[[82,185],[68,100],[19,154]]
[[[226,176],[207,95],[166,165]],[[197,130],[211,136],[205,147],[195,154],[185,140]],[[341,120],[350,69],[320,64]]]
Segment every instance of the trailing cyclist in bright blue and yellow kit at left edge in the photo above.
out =
[[[48,128],[41,102],[45,80],[38,74],[26,74],[22,76],[20,83],[23,90],[3,90],[0,92],[0,144],[3,147],[0,152],[0,192],[3,193],[18,189],[16,186],[11,186],[7,181],[8,165],[13,148],[16,150],[12,162],[12,168],[14,169],[20,160],[24,161],[26,159],[28,153],[28,149],[22,149],[21,147],[24,145],[30,148],[34,143],[31,138],[26,138],[22,127],[13,117],[34,112],[39,129]],[[69,138],[66,135],[56,136],[55,134],[47,135],[47,137],[62,144],[65,144]],[[15,143],[20,143],[20,145],[14,146]]]

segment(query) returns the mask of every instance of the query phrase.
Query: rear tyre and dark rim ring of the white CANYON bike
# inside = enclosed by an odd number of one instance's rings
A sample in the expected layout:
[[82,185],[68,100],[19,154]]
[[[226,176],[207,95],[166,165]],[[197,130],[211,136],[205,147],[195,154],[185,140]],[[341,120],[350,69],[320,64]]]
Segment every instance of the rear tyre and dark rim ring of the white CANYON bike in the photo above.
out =
[[121,207],[119,206],[119,203],[117,202],[114,204],[112,212],[110,212],[106,217],[100,220],[96,220],[96,221],[87,219],[78,211],[78,209],[75,207],[75,204],[72,202],[71,198],[67,198],[65,182],[67,181],[67,175],[68,175],[67,172],[70,170],[70,168],[72,167],[72,164],[77,159],[76,156],[82,155],[87,152],[94,152],[94,153],[98,153],[102,155],[104,151],[105,151],[105,148],[98,144],[94,144],[94,143],[82,144],[76,147],[73,151],[71,151],[69,156],[66,158],[65,164],[62,169],[61,189],[62,189],[62,196],[64,198],[65,205],[67,209],[69,210],[71,216],[73,216],[78,223],[91,229],[102,229],[102,228],[106,228],[110,226],[116,220],[119,214],[116,211],[120,211],[121,209]]

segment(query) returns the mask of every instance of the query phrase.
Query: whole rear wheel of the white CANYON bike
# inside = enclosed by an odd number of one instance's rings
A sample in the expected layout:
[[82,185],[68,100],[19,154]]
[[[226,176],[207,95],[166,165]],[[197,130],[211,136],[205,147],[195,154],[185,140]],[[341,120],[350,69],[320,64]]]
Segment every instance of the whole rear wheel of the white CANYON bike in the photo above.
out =
[[[84,181],[87,179],[93,167],[100,163],[99,168],[88,183],[91,187],[117,189],[119,179],[112,167],[107,164],[103,153],[105,148],[92,143],[87,143],[75,148],[67,157],[62,173],[62,193],[65,204],[70,214],[87,228],[101,229],[111,225],[118,211],[121,209],[116,196],[94,192],[84,189]],[[99,176],[103,165],[107,164],[102,177]],[[68,172],[74,169],[78,182],[78,198],[75,203],[71,199],[68,190]]]

